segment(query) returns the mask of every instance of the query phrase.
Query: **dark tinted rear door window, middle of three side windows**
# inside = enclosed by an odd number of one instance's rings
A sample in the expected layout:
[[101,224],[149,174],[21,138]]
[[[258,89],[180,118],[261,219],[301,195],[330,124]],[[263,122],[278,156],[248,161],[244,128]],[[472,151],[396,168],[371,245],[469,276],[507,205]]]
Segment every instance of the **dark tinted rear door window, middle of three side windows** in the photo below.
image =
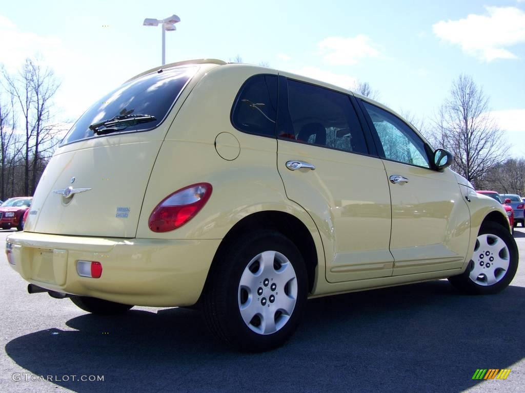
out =
[[293,135],[302,143],[368,154],[363,130],[348,95],[288,80]]

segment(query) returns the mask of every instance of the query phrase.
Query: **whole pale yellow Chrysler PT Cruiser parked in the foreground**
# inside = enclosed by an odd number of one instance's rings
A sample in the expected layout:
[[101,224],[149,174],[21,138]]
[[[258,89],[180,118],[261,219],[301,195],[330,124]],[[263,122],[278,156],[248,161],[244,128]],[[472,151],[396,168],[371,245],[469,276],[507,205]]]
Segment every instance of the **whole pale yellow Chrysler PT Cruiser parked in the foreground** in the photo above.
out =
[[440,278],[476,294],[509,285],[505,211],[452,160],[337,86],[173,63],[78,119],[6,252],[30,293],[98,314],[196,305],[220,339],[265,351],[308,298]]

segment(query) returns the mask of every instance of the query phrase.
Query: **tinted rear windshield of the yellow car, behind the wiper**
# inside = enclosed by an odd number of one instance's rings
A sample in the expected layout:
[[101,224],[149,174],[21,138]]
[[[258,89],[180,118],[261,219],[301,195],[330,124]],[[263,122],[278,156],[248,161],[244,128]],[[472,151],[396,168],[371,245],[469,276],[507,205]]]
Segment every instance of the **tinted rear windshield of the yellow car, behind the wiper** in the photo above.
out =
[[[122,132],[146,131],[162,123],[197,67],[176,67],[133,79],[103,96],[69,130],[61,145],[99,137],[90,125],[116,116],[150,115],[155,120],[125,127]],[[114,134],[109,134],[114,135]]]

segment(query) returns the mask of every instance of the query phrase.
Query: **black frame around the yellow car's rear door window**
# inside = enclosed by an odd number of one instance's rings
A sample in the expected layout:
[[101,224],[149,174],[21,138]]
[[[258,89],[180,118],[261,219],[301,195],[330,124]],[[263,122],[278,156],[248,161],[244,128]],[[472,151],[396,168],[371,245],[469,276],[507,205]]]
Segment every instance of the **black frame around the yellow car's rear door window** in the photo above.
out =
[[[303,140],[297,140],[297,139],[291,139],[291,138],[286,138],[286,137],[279,136],[281,129],[285,129],[285,130],[286,129],[290,129],[290,128],[293,129],[291,116],[290,116],[290,110],[289,110],[289,107],[288,107],[288,81],[289,80],[290,81],[294,81],[294,82],[308,84],[308,85],[314,86],[316,88],[329,90],[329,91],[332,91],[332,92],[335,92],[335,93],[339,93],[339,94],[342,94],[342,95],[346,95],[346,97],[348,98],[348,100],[350,102],[350,108],[353,109],[353,111],[355,113],[355,117],[358,120],[358,124],[361,127],[361,131],[363,133],[363,137],[364,137],[364,141],[365,141],[365,146],[366,146],[366,148],[368,150],[368,153],[363,153],[363,152],[360,152],[360,151],[348,151],[348,150],[344,150],[344,149],[338,149],[337,147],[330,147],[330,146],[327,146],[327,145],[319,145],[319,144],[315,144],[315,143],[309,143],[309,142],[303,141]],[[295,143],[298,143],[298,144],[301,144],[301,145],[321,147],[323,149],[330,149],[330,150],[335,150],[335,151],[342,151],[342,152],[345,152],[345,153],[348,153],[348,154],[358,154],[360,156],[378,158],[379,156],[376,154],[376,151],[374,151],[375,150],[374,149],[375,146],[370,144],[370,142],[371,142],[371,136],[369,135],[370,131],[367,128],[363,127],[360,114],[359,114],[358,110],[356,110],[355,105],[352,102],[352,98],[355,99],[355,97],[353,95],[351,95],[351,94],[349,94],[347,92],[342,92],[340,90],[330,89],[330,88],[327,88],[325,86],[320,86],[320,85],[315,84],[315,83],[301,81],[300,79],[287,78],[287,77],[285,77],[283,75],[279,75],[279,100],[278,100],[278,102],[279,102],[279,110],[277,112],[277,127],[276,127],[277,139],[278,140],[283,140],[283,141],[288,141],[288,142],[295,142]],[[283,117],[285,118],[284,120],[283,120]]]

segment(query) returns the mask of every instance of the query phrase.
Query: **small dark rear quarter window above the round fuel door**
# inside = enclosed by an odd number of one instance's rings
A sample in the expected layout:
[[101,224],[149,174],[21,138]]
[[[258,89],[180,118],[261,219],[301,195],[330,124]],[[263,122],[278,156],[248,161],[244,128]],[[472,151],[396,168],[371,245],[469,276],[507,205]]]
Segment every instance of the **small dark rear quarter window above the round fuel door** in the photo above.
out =
[[275,137],[277,76],[255,75],[237,94],[232,124],[239,131]]

